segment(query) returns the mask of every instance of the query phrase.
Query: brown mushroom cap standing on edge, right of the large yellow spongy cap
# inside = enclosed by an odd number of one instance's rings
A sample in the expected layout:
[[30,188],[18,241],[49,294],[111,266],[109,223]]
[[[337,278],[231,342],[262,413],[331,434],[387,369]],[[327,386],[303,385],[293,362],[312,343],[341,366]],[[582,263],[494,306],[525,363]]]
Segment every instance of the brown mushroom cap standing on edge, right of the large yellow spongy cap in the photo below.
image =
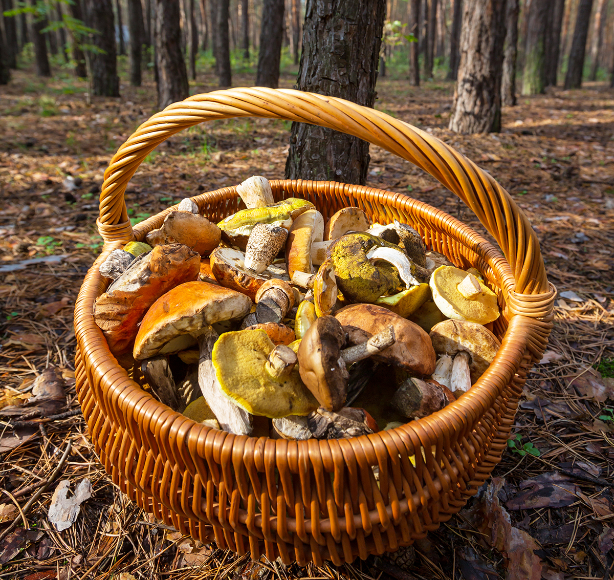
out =
[[321,316],[308,328],[298,347],[298,365],[303,383],[324,409],[343,407],[349,373],[341,359],[345,333],[333,316]]

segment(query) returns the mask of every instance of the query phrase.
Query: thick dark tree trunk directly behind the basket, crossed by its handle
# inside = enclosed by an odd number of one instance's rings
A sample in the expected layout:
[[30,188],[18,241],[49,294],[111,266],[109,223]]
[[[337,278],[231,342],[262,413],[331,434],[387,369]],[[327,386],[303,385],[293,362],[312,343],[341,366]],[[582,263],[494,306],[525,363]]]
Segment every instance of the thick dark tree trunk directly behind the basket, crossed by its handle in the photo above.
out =
[[[373,107],[385,0],[307,0],[297,88]],[[292,123],[289,179],[364,184],[366,141],[322,127]]]

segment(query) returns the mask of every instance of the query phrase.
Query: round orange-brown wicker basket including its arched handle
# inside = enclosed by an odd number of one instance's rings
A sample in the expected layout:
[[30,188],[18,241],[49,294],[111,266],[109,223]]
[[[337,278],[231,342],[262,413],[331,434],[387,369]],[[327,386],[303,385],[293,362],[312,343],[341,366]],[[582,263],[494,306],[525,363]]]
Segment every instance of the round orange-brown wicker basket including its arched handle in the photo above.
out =
[[[271,183],[276,200],[304,197],[325,218],[355,205],[375,221],[411,224],[427,246],[459,267],[484,273],[502,305],[495,323],[502,347],[454,404],[354,439],[257,439],[209,429],[174,412],[117,364],[91,315],[106,289],[98,265],[127,241],[143,240],[170,211],[133,229],[123,198],[128,181],[149,152],[183,128],[248,116],[313,123],[384,147],[435,176],[497,240],[503,255],[467,225],[402,194],[335,182]],[[193,199],[212,221],[238,210],[235,187]],[[105,173],[98,227],[104,249],[85,277],[74,315],[77,393],[112,480],[168,525],[253,558],[265,553],[285,563],[340,565],[394,551],[434,530],[500,460],[526,374],[550,334],[555,290],[535,233],[510,195],[433,136],[373,109],[311,93],[238,88],[196,95],[155,114],[120,147]]]

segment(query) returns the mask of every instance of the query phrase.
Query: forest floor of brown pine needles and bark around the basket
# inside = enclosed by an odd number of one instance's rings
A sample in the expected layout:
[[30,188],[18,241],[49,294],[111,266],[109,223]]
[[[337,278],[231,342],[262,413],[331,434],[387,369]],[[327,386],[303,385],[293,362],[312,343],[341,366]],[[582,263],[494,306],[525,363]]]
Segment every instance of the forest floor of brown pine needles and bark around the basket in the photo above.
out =
[[[192,93],[216,88],[211,75],[201,79]],[[294,79],[284,74],[281,86]],[[235,76],[236,86],[253,83]],[[91,106],[85,90],[31,71],[15,72],[0,88],[0,407],[27,399],[49,366],[64,383],[60,410],[72,410],[47,423],[0,416],[0,578],[515,580],[539,578],[540,567],[546,580],[614,576],[613,90],[587,84],[522,97],[503,109],[501,133],[459,136],[447,129],[453,84],[379,81],[377,109],[456,147],[526,212],[559,291],[556,321],[526,385],[516,445],[487,493],[405,551],[405,562],[370,557],[304,569],[250,563],[167,529],[126,500],[93,453],[74,391],[72,308],[101,248],[95,221],[104,169],[155,112],[156,98],[151,79],[140,88],[124,83],[121,98]],[[131,217],[141,221],[252,174],[283,176],[288,137],[289,123],[254,119],[179,133],[132,179]],[[368,185],[418,198],[483,232],[437,181],[376,147]],[[61,473],[45,488],[58,463]],[[57,482],[74,487],[84,478],[93,496],[68,530],[56,531],[47,511]]]

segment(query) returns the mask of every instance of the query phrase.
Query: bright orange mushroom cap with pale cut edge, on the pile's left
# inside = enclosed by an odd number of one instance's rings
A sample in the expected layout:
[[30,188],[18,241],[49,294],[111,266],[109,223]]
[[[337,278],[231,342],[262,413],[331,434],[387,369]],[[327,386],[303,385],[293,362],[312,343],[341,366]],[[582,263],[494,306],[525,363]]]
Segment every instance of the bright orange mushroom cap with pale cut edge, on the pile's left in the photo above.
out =
[[134,358],[183,350],[185,335],[220,321],[243,318],[251,307],[249,297],[216,284],[180,284],[147,310],[134,341]]

